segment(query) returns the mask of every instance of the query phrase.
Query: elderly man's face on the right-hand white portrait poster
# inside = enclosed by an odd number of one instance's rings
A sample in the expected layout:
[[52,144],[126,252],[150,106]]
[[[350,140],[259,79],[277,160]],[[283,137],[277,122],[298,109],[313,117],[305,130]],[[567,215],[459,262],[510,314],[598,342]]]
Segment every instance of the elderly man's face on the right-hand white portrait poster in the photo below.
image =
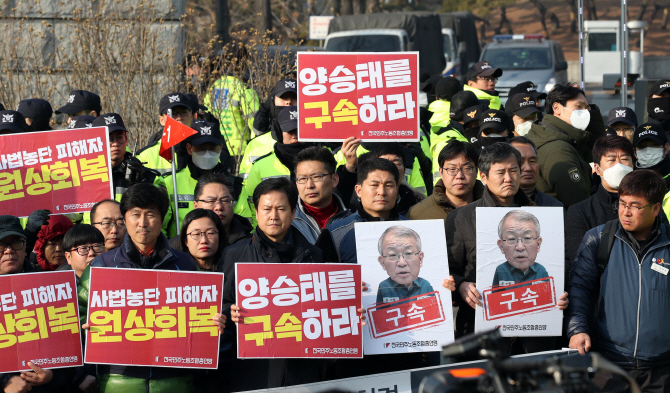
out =
[[523,271],[528,269],[535,263],[541,244],[542,238],[538,236],[533,221],[518,220],[514,216],[507,217],[502,228],[502,239],[498,240],[498,247],[512,266]]

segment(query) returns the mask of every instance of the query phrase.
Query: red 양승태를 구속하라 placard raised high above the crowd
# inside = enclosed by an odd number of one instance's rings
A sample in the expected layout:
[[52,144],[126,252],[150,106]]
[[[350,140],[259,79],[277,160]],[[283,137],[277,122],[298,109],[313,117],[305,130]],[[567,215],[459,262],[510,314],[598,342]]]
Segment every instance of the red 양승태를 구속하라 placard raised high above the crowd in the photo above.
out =
[[298,139],[419,140],[419,53],[298,52]]

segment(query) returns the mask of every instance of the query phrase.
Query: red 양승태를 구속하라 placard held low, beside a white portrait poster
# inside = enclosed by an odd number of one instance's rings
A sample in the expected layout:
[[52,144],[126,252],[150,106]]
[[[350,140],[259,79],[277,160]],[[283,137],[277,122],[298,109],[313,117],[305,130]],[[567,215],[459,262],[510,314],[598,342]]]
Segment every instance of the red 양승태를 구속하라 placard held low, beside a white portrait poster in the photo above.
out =
[[362,358],[361,266],[235,265],[238,358]]

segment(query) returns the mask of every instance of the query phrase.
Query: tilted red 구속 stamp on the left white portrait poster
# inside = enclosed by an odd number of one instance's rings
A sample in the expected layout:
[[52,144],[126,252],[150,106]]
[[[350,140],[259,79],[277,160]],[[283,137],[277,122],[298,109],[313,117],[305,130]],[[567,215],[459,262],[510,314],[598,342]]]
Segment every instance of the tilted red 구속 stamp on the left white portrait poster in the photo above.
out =
[[445,321],[437,291],[390,303],[378,303],[367,310],[372,337],[379,338],[436,326]]

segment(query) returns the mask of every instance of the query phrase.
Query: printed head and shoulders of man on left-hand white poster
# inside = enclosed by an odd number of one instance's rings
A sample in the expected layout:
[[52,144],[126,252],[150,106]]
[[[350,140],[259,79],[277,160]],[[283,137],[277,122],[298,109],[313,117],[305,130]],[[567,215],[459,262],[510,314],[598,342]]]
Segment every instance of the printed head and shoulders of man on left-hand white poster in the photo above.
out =
[[389,303],[433,292],[433,287],[419,277],[424,254],[421,238],[413,229],[395,225],[379,238],[379,264],[389,278],[379,284],[377,303]]

